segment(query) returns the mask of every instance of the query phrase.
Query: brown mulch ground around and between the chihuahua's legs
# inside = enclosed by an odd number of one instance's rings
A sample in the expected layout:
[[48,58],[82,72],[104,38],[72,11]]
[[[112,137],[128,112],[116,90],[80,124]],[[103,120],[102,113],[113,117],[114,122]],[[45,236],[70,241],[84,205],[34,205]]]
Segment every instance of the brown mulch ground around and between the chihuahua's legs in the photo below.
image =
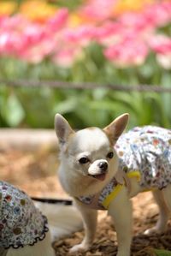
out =
[[[68,198],[57,181],[56,152],[8,151],[0,152],[0,179],[17,185],[31,196]],[[156,205],[149,192],[141,193],[133,199],[133,256],[153,255],[150,248],[171,250],[171,223],[162,235],[143,235],[145,229],[152,227],[157,220]],[[68,255],[70,247],[80,243],[84,232],[76,232],[68,238],[55,241],[56,256]],[[117,240],[115,226],[106,212],[99,211],[97,235],[91,250],[77,253],[78,256],[115,256]]]

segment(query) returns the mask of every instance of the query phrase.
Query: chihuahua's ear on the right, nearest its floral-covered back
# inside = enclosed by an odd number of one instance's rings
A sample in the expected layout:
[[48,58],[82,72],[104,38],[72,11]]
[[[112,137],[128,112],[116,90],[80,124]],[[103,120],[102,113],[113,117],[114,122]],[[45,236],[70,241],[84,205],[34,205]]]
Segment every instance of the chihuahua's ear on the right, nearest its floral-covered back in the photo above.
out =
[[129,114],[125,113],[115,118],[107,127],[103,128],[105,134],[108,135],[109,140],[115,145],[116,140],[121,136],[127,126]]

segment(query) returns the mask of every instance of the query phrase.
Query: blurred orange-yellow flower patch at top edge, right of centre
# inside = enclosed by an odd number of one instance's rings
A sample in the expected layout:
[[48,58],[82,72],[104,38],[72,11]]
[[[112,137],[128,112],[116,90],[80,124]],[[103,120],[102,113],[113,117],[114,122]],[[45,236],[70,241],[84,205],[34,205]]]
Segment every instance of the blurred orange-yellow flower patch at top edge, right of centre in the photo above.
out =
[[121,15],[127,11],[139,11],[144,9],[147,4],[154,3],[155,0],[118,0],[115,3],[113,13]]

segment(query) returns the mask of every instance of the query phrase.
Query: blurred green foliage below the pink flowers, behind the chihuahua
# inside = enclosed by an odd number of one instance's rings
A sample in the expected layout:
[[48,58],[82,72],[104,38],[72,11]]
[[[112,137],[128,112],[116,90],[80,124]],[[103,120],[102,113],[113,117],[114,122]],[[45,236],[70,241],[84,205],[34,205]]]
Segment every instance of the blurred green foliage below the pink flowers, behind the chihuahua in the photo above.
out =
[[[72,68],[59,68],[50,60],[31,65],[1,58],[0,79],[92,81],[101,84],[170,87],[170,72],[156,64],[154,56],[134,68],[116,68],[104,60],[98,45],[86,48]],[[124,112],[130,113],[129,128],[155,124],[170,128],[171,93],[116,92],[97,89],[51,89],[0,85],[0,127],[53,128],[56,112],[74,128],[104,127]]]

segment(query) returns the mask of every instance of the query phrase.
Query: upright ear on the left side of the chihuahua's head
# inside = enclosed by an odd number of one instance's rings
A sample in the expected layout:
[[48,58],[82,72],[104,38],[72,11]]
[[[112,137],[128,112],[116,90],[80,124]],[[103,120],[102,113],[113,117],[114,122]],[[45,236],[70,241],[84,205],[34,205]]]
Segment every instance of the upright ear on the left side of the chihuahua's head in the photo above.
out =
[[56,114],[55,116],[55,130],[60,147],[66,144],[68,137],[71,134],[74,134],[74,130],[70,127],[67,120],[60,114]]

